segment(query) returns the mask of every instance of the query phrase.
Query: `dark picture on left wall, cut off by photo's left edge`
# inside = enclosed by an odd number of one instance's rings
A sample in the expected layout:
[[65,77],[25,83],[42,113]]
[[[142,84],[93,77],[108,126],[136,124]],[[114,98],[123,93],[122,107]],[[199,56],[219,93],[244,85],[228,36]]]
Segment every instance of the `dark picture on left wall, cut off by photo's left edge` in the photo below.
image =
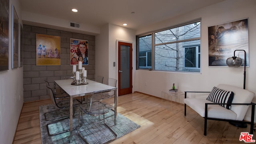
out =
[[9,0],[0,0],[0,71],[9,69]]

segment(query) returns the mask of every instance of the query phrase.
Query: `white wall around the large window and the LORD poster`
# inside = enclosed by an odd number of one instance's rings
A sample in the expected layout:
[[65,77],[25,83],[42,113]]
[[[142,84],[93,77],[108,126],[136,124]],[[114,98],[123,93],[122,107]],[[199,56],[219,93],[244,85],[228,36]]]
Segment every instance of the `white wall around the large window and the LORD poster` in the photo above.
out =
[[[255,0],[226,0],[164,22],[145,26],[136,31],[136,34],[167,28],[196,18],[202,18],[201,74],[136,70],[134,90],[161,97],[161,90],[170,89],[173,83],[182,91],[210,91],[213,86],[220,83],[243,88],[243,68],[208,67],[208,26],[248,18],[250,67],[246,68],[246,89],[256,93],[256,63],[253,59],[256,56]],[[253,102],[256,102],[256,97]],[[246,120],[250,120],[249,114],[250,112],[246,114]]]

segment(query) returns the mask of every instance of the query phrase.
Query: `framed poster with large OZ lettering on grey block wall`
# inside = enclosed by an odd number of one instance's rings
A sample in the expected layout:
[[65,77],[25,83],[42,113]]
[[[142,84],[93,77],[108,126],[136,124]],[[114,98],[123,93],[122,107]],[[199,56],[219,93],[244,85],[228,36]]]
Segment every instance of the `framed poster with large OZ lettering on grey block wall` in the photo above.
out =
[[70,38],[70,65],[88,65],[88,40]]

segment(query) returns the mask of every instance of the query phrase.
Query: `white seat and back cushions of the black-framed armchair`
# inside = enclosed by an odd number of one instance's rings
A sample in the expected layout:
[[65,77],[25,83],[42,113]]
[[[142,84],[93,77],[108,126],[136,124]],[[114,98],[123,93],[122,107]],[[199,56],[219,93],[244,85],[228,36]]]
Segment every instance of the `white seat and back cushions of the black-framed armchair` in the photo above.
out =
[[[254,97],[254,93],[242,88],[219,84],[216,86],[222,90],[234,92],[234,99],[232,103],[251,103]],[[185,98],[184,103],[190,108],[196,111],[200,116],[204,117],[205,103],[213,103],[206,100],[208,94],[201,96],[200,98]],[[205,97],[202,99],[202,97]],[[221,118],[228,120],[243,120],[248,110],[247,105],[231,105],[231,109],[228,110],[220,105],[208,105],[208,118]]]

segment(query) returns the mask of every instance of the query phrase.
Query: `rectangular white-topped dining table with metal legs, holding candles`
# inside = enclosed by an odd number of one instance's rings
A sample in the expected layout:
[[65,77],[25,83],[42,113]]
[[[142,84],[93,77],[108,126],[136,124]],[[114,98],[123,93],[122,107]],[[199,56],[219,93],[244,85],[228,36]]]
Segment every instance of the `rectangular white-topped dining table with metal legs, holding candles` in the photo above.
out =
[[116,124],[116,114],[117,114],[117,88],[113,86],[109,86],[106,84],[102,84],[100,82],[95,82],[93,80],[87,80],[88,84],[80,84],[80,85],[73,85],[72,79],[68,80],[54,80],[54,82],[66,92],[70,96],[70,143],[73,141],[72,130],[73,130],[73,98],[91,95],[93,92],[101,91],[101,90],[115,90],[114,95],[114,120]]

